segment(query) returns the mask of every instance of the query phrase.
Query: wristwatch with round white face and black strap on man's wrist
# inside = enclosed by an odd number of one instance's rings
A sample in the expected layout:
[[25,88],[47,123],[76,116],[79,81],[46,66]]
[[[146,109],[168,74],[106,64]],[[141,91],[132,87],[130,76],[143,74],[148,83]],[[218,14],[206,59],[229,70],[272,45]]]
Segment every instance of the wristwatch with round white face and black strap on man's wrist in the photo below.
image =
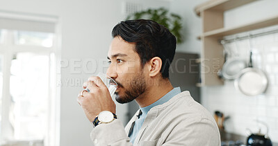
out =
[[101,123],[109,123],[113,120],[117,119],[117,116],[115,113],[112,113],[111,111],[101,111],[98,116],[96,116],[95,120],[92,121],[93,127],[96,127],[97,125]]

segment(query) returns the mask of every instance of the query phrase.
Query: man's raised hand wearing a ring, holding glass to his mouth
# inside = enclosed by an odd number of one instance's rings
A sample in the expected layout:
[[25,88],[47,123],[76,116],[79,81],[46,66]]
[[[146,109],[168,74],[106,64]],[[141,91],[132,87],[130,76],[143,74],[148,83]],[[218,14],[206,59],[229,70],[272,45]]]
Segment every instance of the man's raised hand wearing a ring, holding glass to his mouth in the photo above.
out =
[[92,76],[87,82],[84,82],[83,89],[89,89],[90,93],[83,91],[79,93],[77,101],[83,108],[85,115],[92,122],[101,111],[116,112],[116,104],[100,77]]

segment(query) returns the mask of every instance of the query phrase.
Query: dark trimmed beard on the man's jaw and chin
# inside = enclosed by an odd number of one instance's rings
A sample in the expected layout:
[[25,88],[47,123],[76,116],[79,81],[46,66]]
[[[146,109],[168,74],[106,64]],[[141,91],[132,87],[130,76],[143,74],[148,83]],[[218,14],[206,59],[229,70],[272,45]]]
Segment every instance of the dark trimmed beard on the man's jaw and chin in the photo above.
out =
[[[120,84],[120,86],[122,86],[122,84]],[[129,89],[126,89],[126,91],[124,91],[124,96],[120,97],[117,93],[115,93],[116,94],[115,99],[120,104],[128,103],[138,98],[138,96],[144,93],[145,90],[146,90],[146,82],[144,80],[144,75],[140,73],[139,75],[136,76],[136,78],[131,80],[131,82],[129,83]]]

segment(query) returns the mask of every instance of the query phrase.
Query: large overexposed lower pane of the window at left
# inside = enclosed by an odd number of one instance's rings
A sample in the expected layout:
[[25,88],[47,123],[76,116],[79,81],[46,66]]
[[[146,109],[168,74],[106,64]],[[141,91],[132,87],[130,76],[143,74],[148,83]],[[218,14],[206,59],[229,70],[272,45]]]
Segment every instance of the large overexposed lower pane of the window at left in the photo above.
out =
[[15,139],[43,140],[49,107],[49,56],[17,53],[10,67],[10,113]]

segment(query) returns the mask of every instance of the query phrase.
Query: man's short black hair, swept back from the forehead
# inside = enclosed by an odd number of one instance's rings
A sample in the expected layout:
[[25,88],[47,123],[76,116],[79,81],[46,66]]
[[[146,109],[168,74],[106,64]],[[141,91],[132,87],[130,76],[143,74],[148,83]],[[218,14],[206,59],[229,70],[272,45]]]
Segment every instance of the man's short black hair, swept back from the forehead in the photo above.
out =
[[153,57],[162,60],[161,74],[169,78],[170,64],[174,58],[177,40],[170,30],[148,19],[121,21],[112,30],[112,37],[120,36],[126,42],[135,42],[135,51],[144,67]]

